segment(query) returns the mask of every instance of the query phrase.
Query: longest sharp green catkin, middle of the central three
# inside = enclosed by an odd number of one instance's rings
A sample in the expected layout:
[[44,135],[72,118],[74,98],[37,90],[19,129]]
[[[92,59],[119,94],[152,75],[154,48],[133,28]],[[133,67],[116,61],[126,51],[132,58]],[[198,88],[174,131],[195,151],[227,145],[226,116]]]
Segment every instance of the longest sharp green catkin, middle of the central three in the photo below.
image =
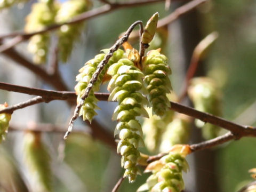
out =
[[117,152],[122,155],[124,177],[134,182],[139,169],[136,166],[140,157],[138,147],[144,145],[141,125],[136,116],[148,117],[143,105],[147,99],[141,94],[143,73],[129,59],[121,59],[111,65],[107,72],[112,76],[108,90],[109,100],[118,101],[113,120],[119,121],[115,135],[119,133]]

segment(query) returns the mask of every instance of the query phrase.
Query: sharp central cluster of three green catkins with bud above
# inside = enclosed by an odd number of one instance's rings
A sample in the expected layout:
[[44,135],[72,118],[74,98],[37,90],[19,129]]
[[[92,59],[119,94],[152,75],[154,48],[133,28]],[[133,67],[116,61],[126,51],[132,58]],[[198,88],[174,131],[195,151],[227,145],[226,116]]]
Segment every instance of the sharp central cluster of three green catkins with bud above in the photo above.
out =
[[[153,39],[157,19],[158,14],[154,14],[147,23],[145,33],[142,35],[142,43],[148,44]],[[154,114],[165,116],[170,106],[166,94],[170,93],[171,89],[168,77],[171,70],[167,65],[167,58],[160,53],[160,49],[149,51],[142,60],[139,52],[133,47],[127,46],[125,50],[125,53],[117,50],[110,57],[89,97],[83,102],[79,115],[82,115],[84,120],[92,121],[93,116],[96,115],[94,110],[98,108],[93,92],[99,90],[103,79],[111,77],[108,84],[110,92],[108,100],[118,102],[112,117],[113,120],[118,121],[114,133],[119,134],[117,152],[122,155],[124,177],[127,177],[129,182],[134,182],[139,173],[136,166],[140,157],[138,147],[144,146],[142,128],[137,117],[149,117],[145,109],[146,105],[152,107]],[[76,78],[78,83],[75,86],[77,103],[81,102],[85,88],[104,57],[104,53],[97,55],[79,70],[80,74]]]

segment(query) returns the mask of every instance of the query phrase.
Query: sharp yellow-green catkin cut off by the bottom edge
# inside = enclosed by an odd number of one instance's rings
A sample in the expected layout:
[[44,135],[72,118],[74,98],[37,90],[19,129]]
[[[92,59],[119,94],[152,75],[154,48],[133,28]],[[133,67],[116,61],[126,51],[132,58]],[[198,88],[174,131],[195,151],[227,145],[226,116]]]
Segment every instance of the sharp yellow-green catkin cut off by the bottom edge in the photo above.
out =
[[150,163],[145,172],[153,172],[137,192],[180,192],[185,189],[182,171],[189,169],[185,157],[179,153],[169,153],[158,161]]

